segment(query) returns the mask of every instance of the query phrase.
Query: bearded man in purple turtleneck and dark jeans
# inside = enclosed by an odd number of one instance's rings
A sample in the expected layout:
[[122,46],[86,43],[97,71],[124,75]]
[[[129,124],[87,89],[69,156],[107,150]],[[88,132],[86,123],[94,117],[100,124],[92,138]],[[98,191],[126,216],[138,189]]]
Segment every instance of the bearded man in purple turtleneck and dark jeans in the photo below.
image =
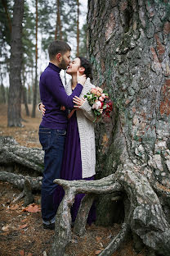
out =
[[60,168],[65,145],[67,128],[67,110],[74,107],[73,98],[79,96],[86,80],[86,75],[78,75],[78,84],[68,96],[60,79],[60,70],[66,69],[70,62],[68,43],[56,40],[48,48],[50,63],[42,72],[39,82],[42,103],[46,106],[46,114],[39,126],[39,140],[44,155],[44,171],[42,178],[42,222],[46,229],[55,228],[56,210],[53,205],[53,192],[60,178]]

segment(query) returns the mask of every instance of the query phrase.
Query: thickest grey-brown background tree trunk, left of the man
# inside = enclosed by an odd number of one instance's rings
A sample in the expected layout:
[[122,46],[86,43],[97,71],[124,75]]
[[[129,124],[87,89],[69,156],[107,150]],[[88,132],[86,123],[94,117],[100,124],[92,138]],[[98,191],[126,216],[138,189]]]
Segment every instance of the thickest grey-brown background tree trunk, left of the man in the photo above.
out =
[[24,0],[14,3],[11,31],[10,88],[8,97],[7,126],[21,126],[21,77],[22,68],[22,20]]

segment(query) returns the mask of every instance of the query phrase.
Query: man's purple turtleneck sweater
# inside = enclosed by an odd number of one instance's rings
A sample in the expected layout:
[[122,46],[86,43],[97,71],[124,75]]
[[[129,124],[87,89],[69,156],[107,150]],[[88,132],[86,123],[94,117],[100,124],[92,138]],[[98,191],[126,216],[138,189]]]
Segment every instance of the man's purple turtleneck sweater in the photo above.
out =
[[74,107],[73,98],[79,96],[83,86],[78,84],[73,93],[68,96],[60,79],[60,68],[51,62],[42,72],[39,90],[46,113],[42,117],[41,125],[50,129],[65,130],[67,127],[67,111],[60,110],[61,106]]

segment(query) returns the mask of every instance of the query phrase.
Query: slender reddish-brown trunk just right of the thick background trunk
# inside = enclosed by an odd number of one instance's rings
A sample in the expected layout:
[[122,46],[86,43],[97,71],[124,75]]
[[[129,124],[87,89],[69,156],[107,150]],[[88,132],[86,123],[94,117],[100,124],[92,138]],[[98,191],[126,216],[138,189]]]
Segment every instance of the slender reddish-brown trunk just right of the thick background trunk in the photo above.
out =
[[35,117],[37,105],[37,90],[38,90],[38,0],[36,0],[36,45],[35,45],[35,82],[34,82],[34,98],[32,116]]

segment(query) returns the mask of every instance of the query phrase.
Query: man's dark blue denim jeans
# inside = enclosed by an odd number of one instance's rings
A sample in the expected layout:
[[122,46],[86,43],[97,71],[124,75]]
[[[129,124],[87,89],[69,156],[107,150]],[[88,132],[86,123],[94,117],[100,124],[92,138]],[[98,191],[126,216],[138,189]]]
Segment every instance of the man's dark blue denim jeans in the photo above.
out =
[[57,185],[53,181],[60,178],[65,134],[65,130],[48,129],[39,126],[39,141],[45,152],[42,178],[42,220],[47,224],[48,222],[54,222],[56,216],[53,194]]

